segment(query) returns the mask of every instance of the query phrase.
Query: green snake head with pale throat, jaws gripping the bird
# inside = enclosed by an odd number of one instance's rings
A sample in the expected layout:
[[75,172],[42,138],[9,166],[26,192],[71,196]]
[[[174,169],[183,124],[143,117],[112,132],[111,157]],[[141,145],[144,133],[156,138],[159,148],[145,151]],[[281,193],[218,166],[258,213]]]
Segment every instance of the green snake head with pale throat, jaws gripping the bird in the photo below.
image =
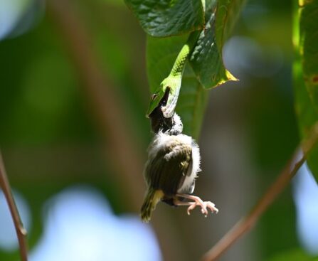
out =
[[174,115],[176,102],[178,102],[181,87],[181,78],[168,77],[164,79],[159,89],[151,97],[146,117],[154,112],[157,107],[161,107],[162,114],[166,118]]

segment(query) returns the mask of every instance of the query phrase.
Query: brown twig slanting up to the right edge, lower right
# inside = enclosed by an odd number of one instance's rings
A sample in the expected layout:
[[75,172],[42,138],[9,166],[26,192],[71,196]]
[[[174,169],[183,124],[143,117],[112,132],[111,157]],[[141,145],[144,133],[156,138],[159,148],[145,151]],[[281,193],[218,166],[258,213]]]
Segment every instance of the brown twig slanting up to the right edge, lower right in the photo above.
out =
[[[258,203],[252,208],[252,211],[236,223],[221,240],[216,243],[205,255],[203,255],[203,261],[217,260],[228,248],[235,243],[238,238],[247,233],[260,216],[267,210],[275,198],[284,190],[290,180],[297,174],[304,161],[306,161],[308,152],[314,147],[318,139],[318,124],[315,124],[312,132],[309,134],[309,138],[305,140],[300,148],[295,151],[292,159],[287,163],[277,179],[272,183],[270,188],[265,191]],[[299,157],[301,158],[299,159]],[[297,160],[298,159],[298,160]]]

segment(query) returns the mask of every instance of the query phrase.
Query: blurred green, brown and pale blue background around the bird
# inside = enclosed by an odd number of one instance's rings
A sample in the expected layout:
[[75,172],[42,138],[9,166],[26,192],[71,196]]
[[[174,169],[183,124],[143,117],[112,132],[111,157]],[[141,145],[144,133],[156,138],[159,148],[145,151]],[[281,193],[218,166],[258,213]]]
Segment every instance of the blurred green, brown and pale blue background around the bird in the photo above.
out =
[[[247,1],[224,48],[240,82],[209,90],[196,194],[218,215],[159,204],[139,220],[152,134],[146,37],[120,0],[0,0],[0,145],[31,261],[199,260],[248,213],[299,143],[292,2]],[[304,166],[221,260],[318,255]],[[0,193],[0,260],[18,260]]]

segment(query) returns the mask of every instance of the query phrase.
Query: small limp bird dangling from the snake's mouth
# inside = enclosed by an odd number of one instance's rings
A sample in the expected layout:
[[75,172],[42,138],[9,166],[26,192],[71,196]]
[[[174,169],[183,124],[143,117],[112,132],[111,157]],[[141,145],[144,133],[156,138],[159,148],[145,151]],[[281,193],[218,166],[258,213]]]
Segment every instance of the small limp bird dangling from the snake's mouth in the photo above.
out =
[[182,134],[183,124],[176,112],[165,118],[158,107],[152,114],[154,139],[148,149],[148,159],[144,167],[147,191],[140,211],[144,222],[149,222],[152,211],[159,201],[170,206],[189,206],[187,213],[201,207],[203,215],[208,210],[218,213],[211,201],[202,201],[194,192],[195,181],[200,169],[201,156],[198,144],[186,134]]

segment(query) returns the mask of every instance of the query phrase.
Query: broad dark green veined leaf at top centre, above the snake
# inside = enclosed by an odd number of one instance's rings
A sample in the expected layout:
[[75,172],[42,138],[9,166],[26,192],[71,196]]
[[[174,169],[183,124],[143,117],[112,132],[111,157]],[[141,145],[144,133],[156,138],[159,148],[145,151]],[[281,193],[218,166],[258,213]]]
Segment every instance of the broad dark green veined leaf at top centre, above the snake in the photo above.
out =
[[200,30],[204,25],[200,0],[125,0],[150,36],[175,36]]

